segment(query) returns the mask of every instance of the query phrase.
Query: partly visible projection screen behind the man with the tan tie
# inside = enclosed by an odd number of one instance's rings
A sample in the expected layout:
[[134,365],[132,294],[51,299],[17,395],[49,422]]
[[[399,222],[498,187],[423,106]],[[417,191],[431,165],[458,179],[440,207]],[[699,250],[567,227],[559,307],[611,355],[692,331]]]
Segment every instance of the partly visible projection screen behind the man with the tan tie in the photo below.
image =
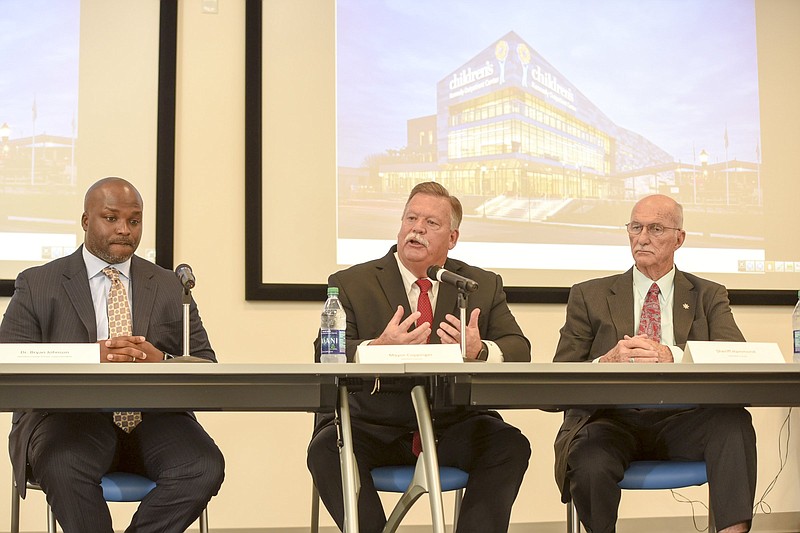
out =
[[83,194],[105,176],[142,193],[137,253],[171,267],[176,21],[158,0],[4,3],[0,295],[83,242]]

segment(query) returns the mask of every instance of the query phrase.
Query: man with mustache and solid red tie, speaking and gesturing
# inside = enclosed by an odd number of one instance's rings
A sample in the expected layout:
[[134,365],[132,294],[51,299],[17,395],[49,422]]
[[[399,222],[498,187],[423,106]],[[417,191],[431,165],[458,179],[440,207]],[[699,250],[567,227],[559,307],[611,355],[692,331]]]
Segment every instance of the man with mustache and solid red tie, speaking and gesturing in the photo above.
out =
[[[427,280],[431,265],[478,282],[469,295],[466,356],[490,361],[530,361],[530,343],[506,304],[500,277],[447,258],[458,241],[461,203],[438,183],[421,183],[411,191],[403,211],[397,245],[375,261],[333,274],[347,312],[347,359],[360,344],[461,342],[457,290],[433,281],[422,293],[416,280]],[[420,321],[418,303],[429,298],[432,323]],[[421,307],[421,306],[420,306]],[[319,361],[319,343],[317,342]],[[408,389],[410,390],[410,388]],[[505,532],[511,506],[528,467],[530,444],[497,413],[464,409],[434,410],[439,463],[469,472],[458,531]],[[353,446],[361,492],[360,531],[381,531],[386,516],[370,470],[382,465],[413,465],[412,435],[416,418],[410,394],[364,391],[351,400]],[[323,503],[339,528],[344,504],[336,428],[330,418],[317,425],[308,451],[308,467]]]

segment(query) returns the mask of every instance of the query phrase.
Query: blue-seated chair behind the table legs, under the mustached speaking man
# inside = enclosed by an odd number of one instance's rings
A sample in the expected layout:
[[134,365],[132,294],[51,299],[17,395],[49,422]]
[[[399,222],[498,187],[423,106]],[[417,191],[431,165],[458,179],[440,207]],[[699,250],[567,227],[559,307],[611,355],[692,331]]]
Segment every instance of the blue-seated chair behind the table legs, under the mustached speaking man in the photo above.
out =
[[[416,467],[411,465],[404,466],[381,466],[374,468],[371,472],[372,482],[375,488],[381,492],[398,492],[403,495],[397,502],[392,513],[386,519],[384,533],[397,531],[400,522],[411,506],[428,492],[425,487],[425,476],[415,476]],[[461,510],[461,500],[464,497],[464,489],[469,480],[469,474],[451,466],[439,467],[439,479],[442,485],[442,492],[456,491],[455,518],[453,518],[453,531],[458,523],[458,513]],[[313,488],[311,500],[311,532],[319,531],[319,494],[316,487]]]

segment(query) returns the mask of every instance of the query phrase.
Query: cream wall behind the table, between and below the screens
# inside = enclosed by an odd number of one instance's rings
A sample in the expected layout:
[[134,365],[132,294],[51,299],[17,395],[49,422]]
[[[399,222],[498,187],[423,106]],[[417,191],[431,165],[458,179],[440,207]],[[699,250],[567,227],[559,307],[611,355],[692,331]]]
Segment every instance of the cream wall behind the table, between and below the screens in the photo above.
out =
[[[762,18],[765,4],[779,9],[784,3],[760,2]],[[321,303],[244,299],[244,2],[220,2],[218,15],[201,14],[200,0],[185,0],[180,6],[176,262],[191,264],[198,275],[194,296],[221,361],[307,362]],[[145,215],[152,223],[152,206],[150,211],[147,207]],[[291,228],[286,237],[292,238]],[[314,244],[307,243],[310,250]],[[280,249],[271,252],[279,254]],[[0,310],[7,303],[0,299]],[[534,361],[551,360],[564,307],[513,305],[512,310],[532,341]],[[785,354],[790,353],[791,309],[737,307],[734,313],[749,340],[777,341]],[[753,413],[759,438],[760,495],[780,469],[778,439],[787,410],[754,409]],[[552,466],[552,442],[561,416],[538,411],[503,414],[522,429],[533,448],[513,521],[562,520],[564,508]],[[199,418],[227,460],[226,482],[209,507],[215,528],[308,523],[311,479],[305,449],[310,414],[200,413]],[[10,415],[0,415],[3,425],[10,426]],[[800,510],[796,439],[789,443],[788,464],[767,498],[773,512]],[[785,444],[782,449],[786,450]],[[0,479],[10,478],[9,462],[0,460]],[[703,488],[682,492],[706,500]],[[0,483],[0,502],[9,499],[9,485]],[[29,500],[23,505],[23,530],[42,530],[43,498],[36,494]],[[121,529],[133,506],[114,509]],[[426,513],[427,505],[420,502],[407,520],[423,524],[428,520]],[[669,492],[627,493],[620,515],[690,516],[691,509],[675,503]],[[8,519],[7,507],[0,505],[0,529]],[[325,515],[323,524],[330,523]]]

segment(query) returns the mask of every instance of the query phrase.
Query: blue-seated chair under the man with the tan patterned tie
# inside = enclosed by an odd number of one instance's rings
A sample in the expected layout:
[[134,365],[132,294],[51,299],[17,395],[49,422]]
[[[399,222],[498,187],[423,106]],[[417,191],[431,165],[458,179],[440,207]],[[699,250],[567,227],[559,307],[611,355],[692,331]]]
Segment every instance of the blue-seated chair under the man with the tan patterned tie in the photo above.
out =
[[[28,481],[28,488],[42,490],[36,483]],[[139,502],[156,487],[155,481],[128,472],[110,472],[100,481],[103,498],[107,502]],[[19,533],[19,491],[11,480],[11,533]],[[56,533],[56,518],[47,506],[47,533]],[[208,510],[200,515],[200,532],[208,533]]]

